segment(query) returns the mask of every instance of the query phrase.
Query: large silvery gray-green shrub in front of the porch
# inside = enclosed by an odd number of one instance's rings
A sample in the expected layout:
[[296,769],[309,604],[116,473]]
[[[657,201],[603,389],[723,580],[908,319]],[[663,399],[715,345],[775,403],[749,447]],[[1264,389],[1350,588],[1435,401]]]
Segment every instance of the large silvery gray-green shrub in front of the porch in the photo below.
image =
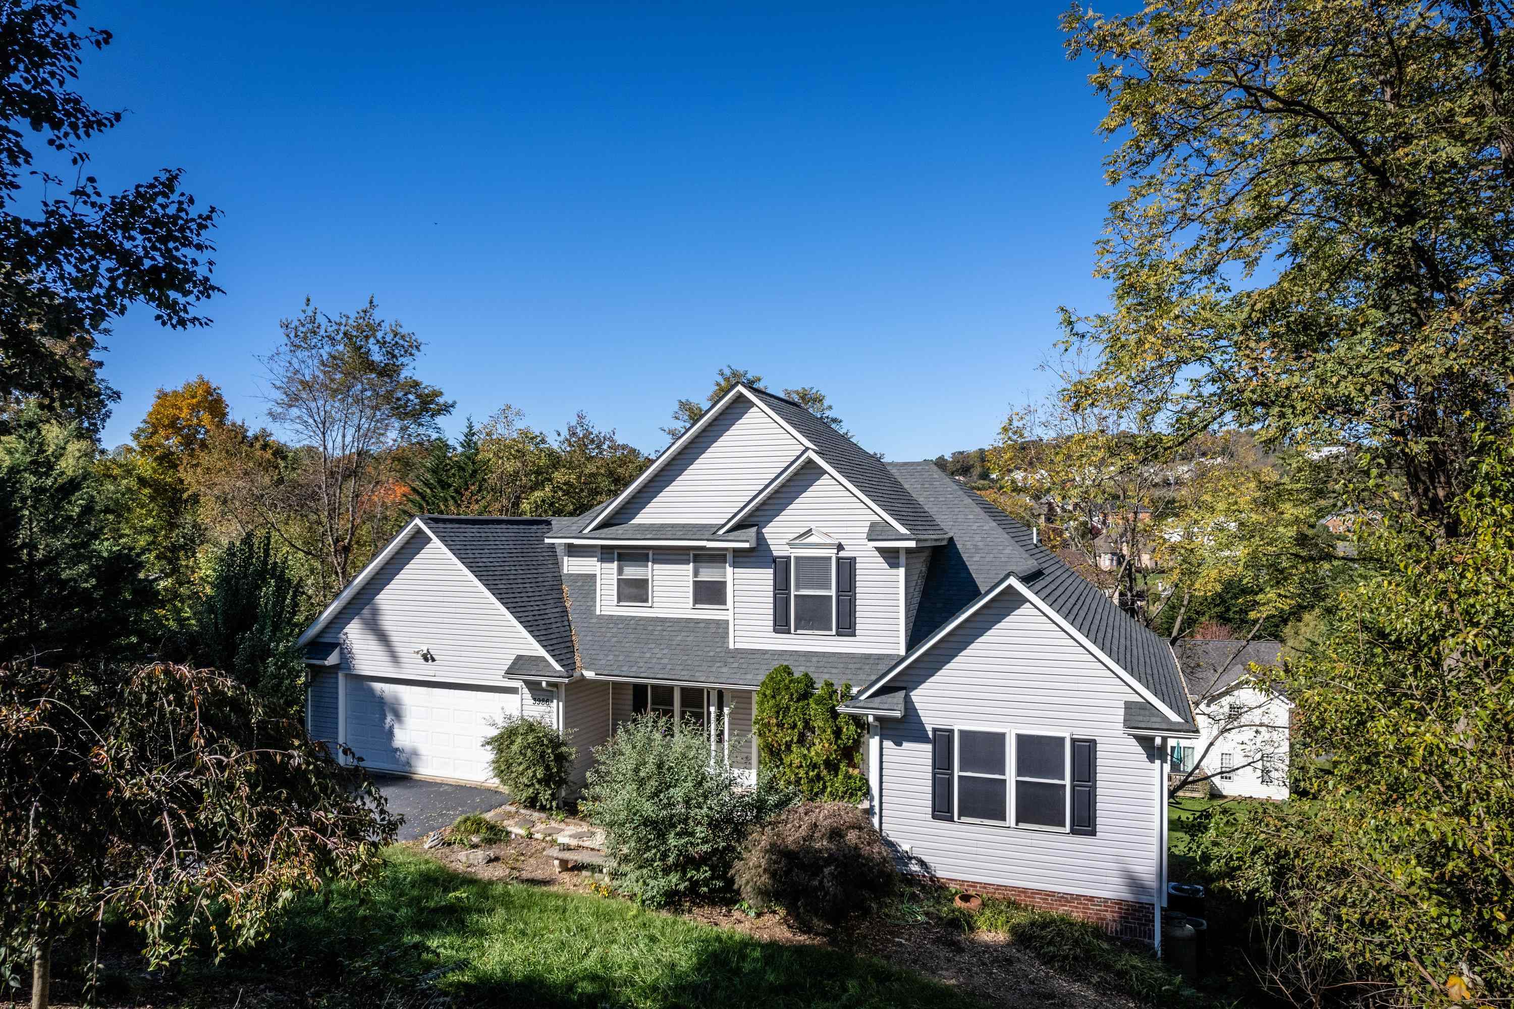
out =
[[583,809],[606,832],[618,885],[651,906],[728,894],[748,833],[792,801],[768,780],[742,788],[702,735],[662,715],[622,726],[593,756]]

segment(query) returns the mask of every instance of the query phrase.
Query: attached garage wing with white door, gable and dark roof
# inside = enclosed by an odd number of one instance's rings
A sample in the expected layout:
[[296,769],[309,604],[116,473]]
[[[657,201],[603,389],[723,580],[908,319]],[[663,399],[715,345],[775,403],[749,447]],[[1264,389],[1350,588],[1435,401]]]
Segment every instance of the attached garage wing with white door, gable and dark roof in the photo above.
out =
[[547,529],[413,520],[301,638],[310,735],[374,771],[486,782],[492,723],[560,724],[574,653]]

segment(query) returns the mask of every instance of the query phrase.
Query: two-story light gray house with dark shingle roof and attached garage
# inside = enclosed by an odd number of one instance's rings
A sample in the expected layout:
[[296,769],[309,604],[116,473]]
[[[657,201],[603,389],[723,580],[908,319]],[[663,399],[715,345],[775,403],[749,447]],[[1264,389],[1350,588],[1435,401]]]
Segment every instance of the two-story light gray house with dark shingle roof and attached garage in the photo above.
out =
[[755,776],[780,664],[855,688],[901,864],[1154,938],[1172,738],[1166,641],[930,462],[884,464],[737,386],[574,518],[413,520],[306,632],[310,730],[380,771],[486,780],[501,714],[636,712]]

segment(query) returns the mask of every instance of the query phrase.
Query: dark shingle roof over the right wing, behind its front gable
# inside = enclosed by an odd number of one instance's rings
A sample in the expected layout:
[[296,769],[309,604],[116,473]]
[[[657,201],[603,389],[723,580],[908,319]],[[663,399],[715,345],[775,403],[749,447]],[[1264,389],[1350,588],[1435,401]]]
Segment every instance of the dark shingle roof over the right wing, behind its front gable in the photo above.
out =
[[[925,597],[914,620],[911,648],[1008,573],[1014,573],[1063,620],[1092,641],[1137,683],[1172,711],[1192,718],[1172,648],[1151,629],[1111,603],[1092,582],[1036,542],[1030,529],[964,488],[931,462],[889,467],[948,529],[952,541],[936,547]],[[970,508],[964,506],[969,504]]]

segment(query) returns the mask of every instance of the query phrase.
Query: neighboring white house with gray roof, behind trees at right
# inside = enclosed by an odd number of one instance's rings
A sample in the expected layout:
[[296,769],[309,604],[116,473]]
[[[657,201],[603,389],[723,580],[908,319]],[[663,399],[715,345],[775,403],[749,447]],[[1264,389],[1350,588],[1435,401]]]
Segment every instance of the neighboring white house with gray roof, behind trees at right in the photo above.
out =
[[[1175,645],[1199,738],[1173,742],[1172,771],[1198,767],[1216,795],[1288,797],[1293,704],[1258,683],[1278,664],[1276,641],[1179,641]],[[1255,667],[1255,668],[1254,668]]]

